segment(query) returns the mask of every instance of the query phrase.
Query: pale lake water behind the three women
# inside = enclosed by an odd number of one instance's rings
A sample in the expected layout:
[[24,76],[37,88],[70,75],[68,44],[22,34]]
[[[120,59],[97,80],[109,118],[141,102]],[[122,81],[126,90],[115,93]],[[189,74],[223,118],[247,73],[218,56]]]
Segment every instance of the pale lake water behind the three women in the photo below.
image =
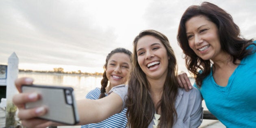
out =
[[[20,77],[31,77],[34,79],[34,84],[40,85],[60,85],[73,87],[75,97],[77,100],[85,98],[85,95],[95,87],[101,87],[100,82],[102,76],[78,76],[78,75],[65,75],[65,74],[42,74],[42,73],[19,73]],[[194,79],[190,79],[191,83],[195,82]],[[208,110],[205,102],[202,102],[204,110]],[[66,128],[70,126],[59,126],[58,128]],[[74,126],[73,128],[79,128]],[[226,128],[223,124],[216,120],[206,120],[199,128]]]

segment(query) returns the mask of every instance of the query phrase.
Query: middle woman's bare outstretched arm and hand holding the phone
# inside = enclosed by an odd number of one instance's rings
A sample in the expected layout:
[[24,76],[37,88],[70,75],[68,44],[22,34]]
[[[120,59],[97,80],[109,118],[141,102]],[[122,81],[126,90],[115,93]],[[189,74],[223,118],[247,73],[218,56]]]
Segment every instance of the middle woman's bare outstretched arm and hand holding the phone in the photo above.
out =
[[[31,78],[19,78],[15,81],[15,85],[19,92],[21,92],[22,85],[33,84]],[[22,124],[26,127],[45,128],[48,126],[60,126],[56,122],[45,119],[38,119],[37,117],[47,113],[45,107],[25,109],[24,104],[27,102],[35,102],[39,100],[37,93],[19,93],[13,96],[13,103],[19,109],[18,117],[22,120]],[[76,125],[97,123],[104,119],[118,113],[122,109],[122,100],[116,93],[111,93],[105,98],[99,100],[83,99],[76,101],[80,122]]]

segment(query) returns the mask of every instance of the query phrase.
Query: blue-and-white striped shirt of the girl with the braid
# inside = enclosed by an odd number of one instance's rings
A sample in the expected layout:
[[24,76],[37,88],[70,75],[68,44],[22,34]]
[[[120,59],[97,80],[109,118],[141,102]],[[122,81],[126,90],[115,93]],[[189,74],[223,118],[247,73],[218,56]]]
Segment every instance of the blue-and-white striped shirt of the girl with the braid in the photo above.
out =
[[[100,88],[95,88],[86,95],[85,98],[97,100],[100,96]],[[107,96],[107,94],[106,94]],[[97,124],[86,124],[82,125],[81,128],[126,128],[127,118],[126,118],[126,111],[125,108],[121,113],[117,113],[104,121],[101,121]]]

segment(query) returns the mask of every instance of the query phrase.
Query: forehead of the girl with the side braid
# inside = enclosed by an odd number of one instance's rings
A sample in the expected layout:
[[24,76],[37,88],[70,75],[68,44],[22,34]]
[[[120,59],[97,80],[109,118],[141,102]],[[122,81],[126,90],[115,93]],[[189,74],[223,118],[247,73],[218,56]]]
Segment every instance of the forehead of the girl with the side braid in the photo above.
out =
[[121,63],[130,63],[130,56],[123,52],[114,53],[108,61],[116,61]]

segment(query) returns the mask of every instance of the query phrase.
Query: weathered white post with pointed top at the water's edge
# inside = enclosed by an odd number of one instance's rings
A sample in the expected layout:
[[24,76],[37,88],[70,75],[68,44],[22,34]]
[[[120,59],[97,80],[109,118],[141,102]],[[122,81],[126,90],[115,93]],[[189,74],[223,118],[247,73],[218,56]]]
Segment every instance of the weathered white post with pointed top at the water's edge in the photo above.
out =
[[17,111],[17,107],[13,104],[12,99],[13,95],[17,93],[17,89],[15,87],[14,81],[18,78],[18,64],[19,59],[15,52],[11,54],[8,59],[8,66],[7,66],[7,84],[6,84],[6,98],[7,98],[7,108],[6,108],[6,121],[5,127],[6,128],[16,128],[17,121],[15,120],[15,113]]

